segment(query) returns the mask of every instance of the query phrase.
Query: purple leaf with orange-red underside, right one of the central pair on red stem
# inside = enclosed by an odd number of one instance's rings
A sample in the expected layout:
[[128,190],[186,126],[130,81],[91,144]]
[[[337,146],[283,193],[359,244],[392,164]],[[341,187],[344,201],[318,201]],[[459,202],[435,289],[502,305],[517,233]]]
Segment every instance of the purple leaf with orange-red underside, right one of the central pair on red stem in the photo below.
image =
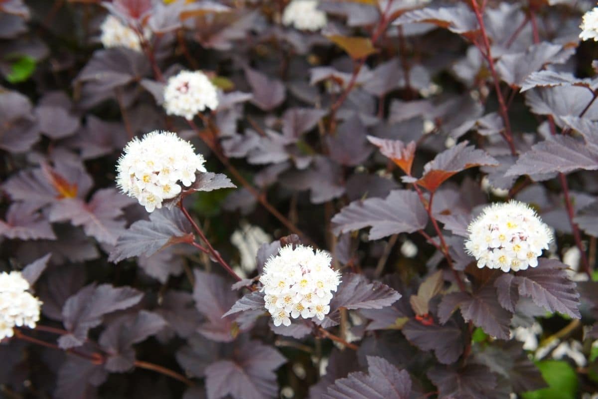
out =
[[467,141],[460,142],[426,163],[423,176],[417,180],[417,184],[433,193],[444,181],[461,170],[480,165],[498,165],[498,161],[483,150],[476,150],[473,145],[467,144]]

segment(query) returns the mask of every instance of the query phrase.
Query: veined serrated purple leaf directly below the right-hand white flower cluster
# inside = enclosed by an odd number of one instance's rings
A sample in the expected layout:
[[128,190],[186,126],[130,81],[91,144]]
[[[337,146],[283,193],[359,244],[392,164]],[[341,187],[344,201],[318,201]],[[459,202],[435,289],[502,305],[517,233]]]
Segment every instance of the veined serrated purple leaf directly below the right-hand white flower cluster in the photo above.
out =
[[539,259],[538,267],[517,272],[515,284],[521,296],[531,297],[535,304],[548,312],[560,312],[572,318],[581,318],[579,293],[570,281],[566,266],[554,259]]

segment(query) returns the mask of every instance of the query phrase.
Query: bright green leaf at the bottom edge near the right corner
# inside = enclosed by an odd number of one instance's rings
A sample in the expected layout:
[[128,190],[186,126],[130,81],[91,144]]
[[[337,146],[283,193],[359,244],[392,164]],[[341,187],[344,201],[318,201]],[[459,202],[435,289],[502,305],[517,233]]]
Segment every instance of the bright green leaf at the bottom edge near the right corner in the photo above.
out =
[[524,392],[523,399],[575,399],[578,380],[575,370],[562,360],[543,360],[536,363],[548,388]]

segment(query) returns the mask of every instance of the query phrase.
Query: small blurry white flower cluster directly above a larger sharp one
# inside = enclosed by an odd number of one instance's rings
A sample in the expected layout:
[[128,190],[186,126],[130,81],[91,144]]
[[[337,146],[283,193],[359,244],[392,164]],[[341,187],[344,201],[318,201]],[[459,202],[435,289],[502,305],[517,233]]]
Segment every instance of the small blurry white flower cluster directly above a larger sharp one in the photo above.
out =
[[164,89],[164,109],[169,115],[192,120],[198,112],[217,106],[216,87],[200,71],[181,71],[169,78]]

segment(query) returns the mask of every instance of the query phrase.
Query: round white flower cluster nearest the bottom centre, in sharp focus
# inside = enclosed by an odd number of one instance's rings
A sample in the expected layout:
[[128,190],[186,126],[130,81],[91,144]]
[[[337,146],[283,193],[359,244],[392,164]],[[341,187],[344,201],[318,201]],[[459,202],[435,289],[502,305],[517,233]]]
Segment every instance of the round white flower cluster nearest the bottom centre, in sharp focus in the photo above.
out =
[[332,292],[340,283],[340,275],[330,267],[328,252],[312,247],[291,244],[279,249],[264,266],[260,281],[266,293],[266,309],[274,325],[290,325],[289,315],[323,320],[330,312]]

